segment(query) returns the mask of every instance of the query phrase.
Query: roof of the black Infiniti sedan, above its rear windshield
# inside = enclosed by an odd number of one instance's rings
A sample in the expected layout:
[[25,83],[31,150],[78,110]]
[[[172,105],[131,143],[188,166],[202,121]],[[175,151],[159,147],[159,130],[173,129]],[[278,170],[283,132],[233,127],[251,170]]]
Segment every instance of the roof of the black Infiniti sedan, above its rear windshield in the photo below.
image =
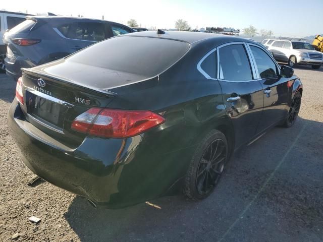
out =
[[[157,30],[154,31],[144,31],[144,32],[135,32],[122,36],[138,36],[138,37],[150,37],[150,38],[163,38],[163,39],[171,39],[177,40],[182,42],[187,42],[192,44],[194,42],[202,41],[202,40],[209,40],[214,39],[219,43],[222,42],[251,42],[254,43],[252,40],[248,40],[245,38],[237,37],[237,36],[230,36],[224,34],[213,34],[213,33],[201,33],[201,32],[189,32],[189,31],[164,31],[165,34],[158,34]],[[119,36],[118,36],[119,37]]]

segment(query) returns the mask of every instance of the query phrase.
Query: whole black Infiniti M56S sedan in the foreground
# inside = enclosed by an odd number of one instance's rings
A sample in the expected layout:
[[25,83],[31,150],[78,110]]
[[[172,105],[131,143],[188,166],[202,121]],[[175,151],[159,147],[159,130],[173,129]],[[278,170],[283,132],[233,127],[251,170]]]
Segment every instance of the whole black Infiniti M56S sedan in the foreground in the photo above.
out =
[[35,174],[94,206],[200,200],[239,147],[293,126],[293,73],[243,38],[131,33],[23,69],[9,127]]

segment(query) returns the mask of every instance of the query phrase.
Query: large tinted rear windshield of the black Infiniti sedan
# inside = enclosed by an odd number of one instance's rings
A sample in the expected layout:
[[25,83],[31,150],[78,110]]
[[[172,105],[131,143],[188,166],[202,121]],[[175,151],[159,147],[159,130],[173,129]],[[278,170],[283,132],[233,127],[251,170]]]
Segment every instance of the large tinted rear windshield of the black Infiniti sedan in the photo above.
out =
[[122,36],[93,44],[67,60],[152,77],[173,65],[188,49],[188,43],[175,40]]

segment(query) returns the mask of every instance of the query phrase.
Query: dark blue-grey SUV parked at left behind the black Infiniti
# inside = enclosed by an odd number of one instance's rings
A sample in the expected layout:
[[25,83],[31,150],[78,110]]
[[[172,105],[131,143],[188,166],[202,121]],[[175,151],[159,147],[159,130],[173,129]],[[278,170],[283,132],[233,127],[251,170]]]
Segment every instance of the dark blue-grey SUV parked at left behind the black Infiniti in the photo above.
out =
[[7,74],[17,80],[21,68],[55,61],[97,41],[132,33],[133,29],[104,20],[32,16],[5,34]]

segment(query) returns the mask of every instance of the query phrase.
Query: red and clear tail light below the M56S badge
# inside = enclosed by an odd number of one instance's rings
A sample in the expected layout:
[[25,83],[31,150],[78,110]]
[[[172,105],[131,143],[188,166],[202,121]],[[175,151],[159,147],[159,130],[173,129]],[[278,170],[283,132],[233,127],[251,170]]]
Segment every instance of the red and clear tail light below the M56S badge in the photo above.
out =
[[148,110],[92,107],[74,119],[72,129],[99,137],[127,138],[164,122],[163,116]]

